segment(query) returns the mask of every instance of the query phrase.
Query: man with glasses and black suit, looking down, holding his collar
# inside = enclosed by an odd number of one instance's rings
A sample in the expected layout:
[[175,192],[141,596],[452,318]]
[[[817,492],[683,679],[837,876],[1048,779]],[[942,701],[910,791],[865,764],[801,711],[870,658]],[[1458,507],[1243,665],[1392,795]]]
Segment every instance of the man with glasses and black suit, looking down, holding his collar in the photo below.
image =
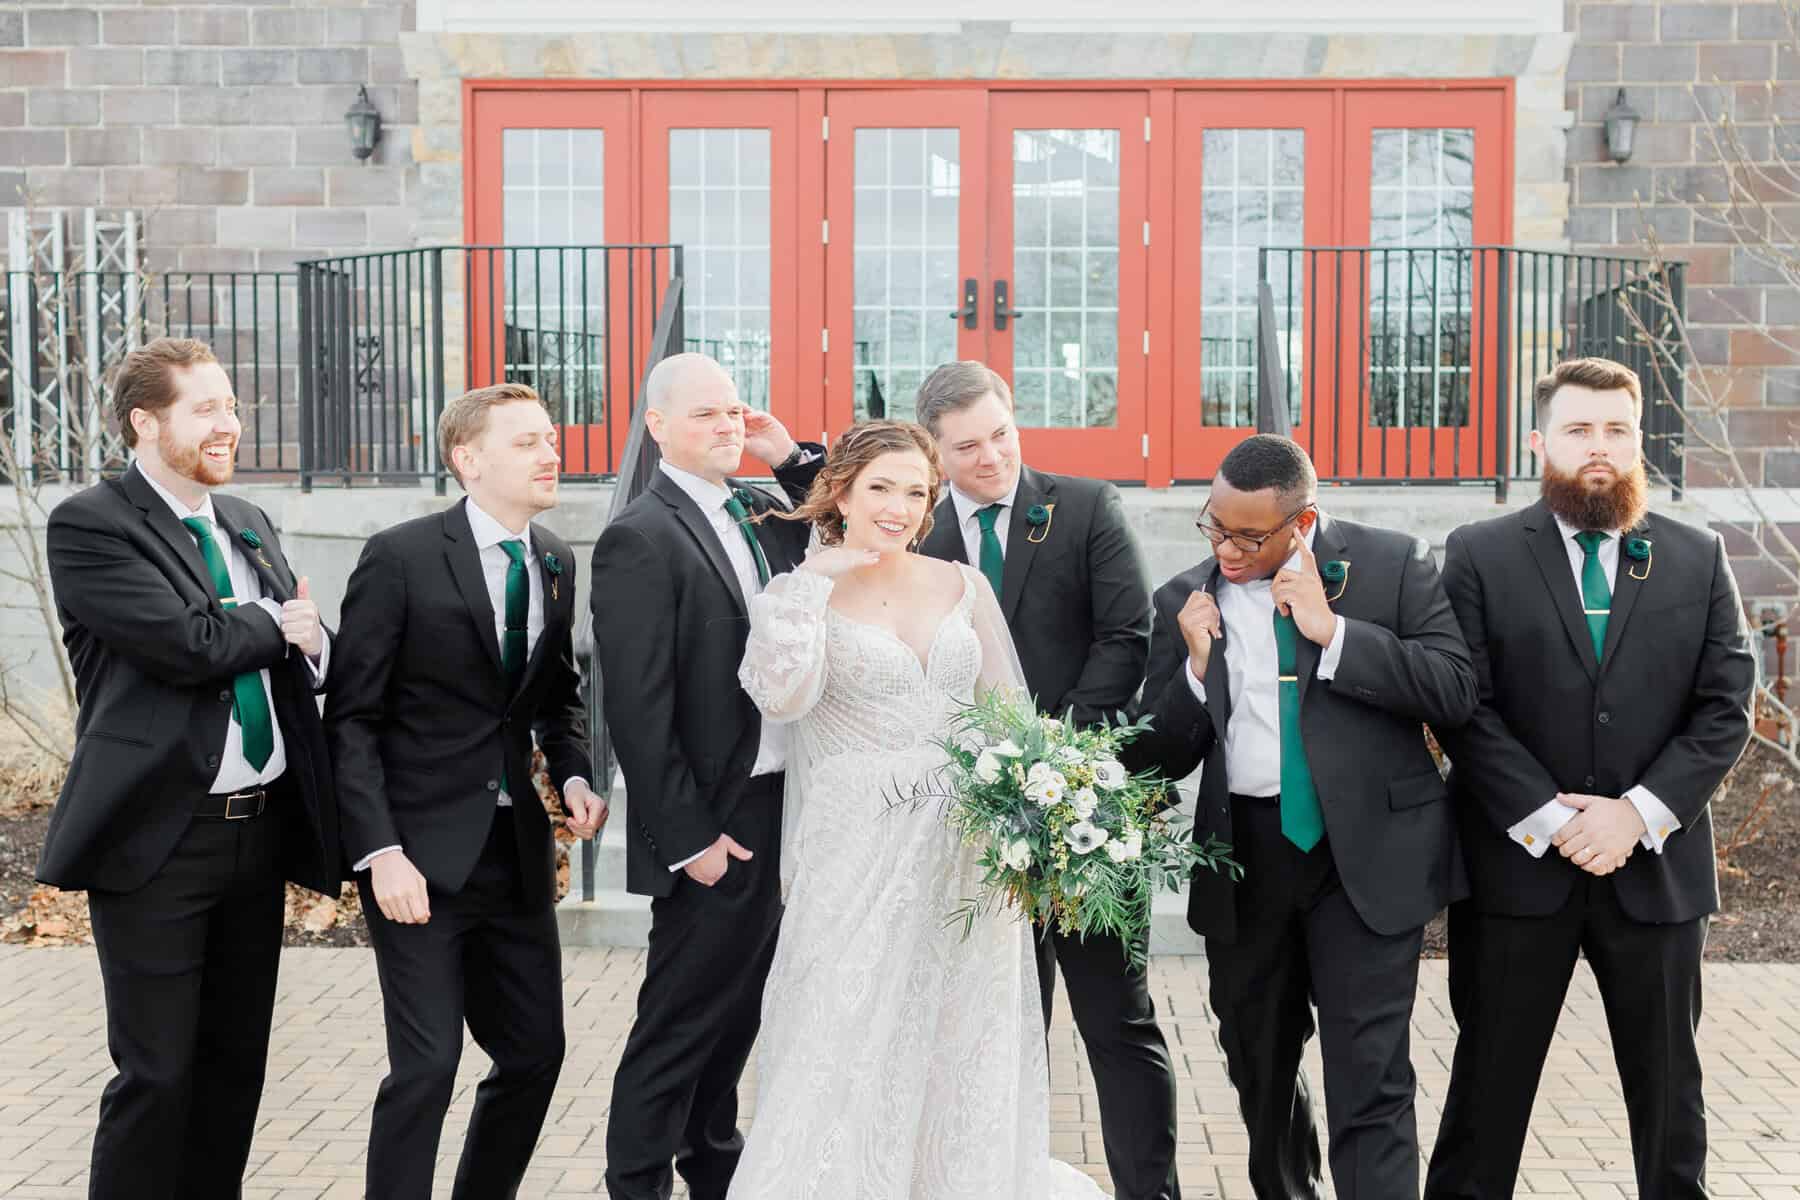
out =
[[1154,734],[1129,765],[1181,779],[1204,763],[1195,837],[1244,867],[1240,883],[1195,873],[1188,925],[1206,937],[1251,1187],[1323,1196],[1300,1072],[1318,1006],[1337,1195],[1417,1196],[1418,950],[1467,892],[1422,723],[1469,720],[1469,648],[1426,543],[1323,516],[1285,437],[1226,455],[1199,527],[1213,558],[1156,592]]

